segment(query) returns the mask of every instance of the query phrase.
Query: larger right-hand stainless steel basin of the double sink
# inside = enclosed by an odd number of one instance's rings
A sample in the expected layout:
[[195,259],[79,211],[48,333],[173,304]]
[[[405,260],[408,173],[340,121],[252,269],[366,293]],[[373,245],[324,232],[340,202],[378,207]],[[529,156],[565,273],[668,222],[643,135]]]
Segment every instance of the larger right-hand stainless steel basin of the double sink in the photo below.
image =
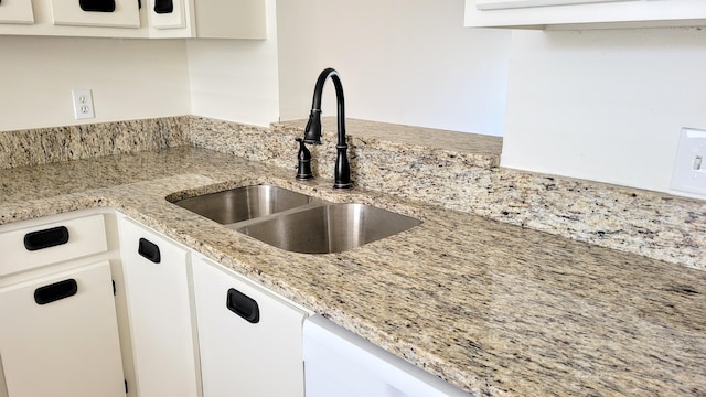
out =
[[364,204],[327,204],[274,216],[236,230],[275,247],[303,254],[341,253],[421,224]]

